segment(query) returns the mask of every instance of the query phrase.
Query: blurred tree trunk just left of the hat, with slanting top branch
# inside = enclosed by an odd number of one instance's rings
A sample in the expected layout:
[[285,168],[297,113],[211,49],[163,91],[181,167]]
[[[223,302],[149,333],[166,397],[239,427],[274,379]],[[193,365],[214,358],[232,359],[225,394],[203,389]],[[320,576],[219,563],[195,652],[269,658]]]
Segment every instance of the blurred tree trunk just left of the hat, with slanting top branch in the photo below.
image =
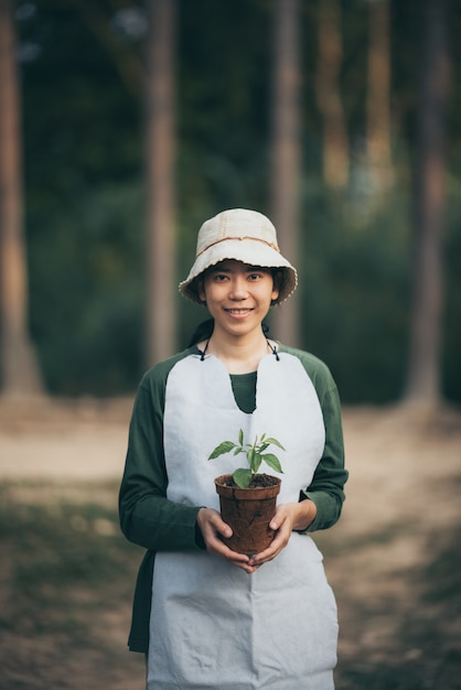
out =
[[[173,352],[176,332],[173,211],[175,0],[147,0],[146,8],[124,0],[110,2],[108,8],[86,0],[69,1],[106,51],[126,89],[144,103],[144,366],[151,366]],[[114,22],[126,24],[128,12],[139,18],[143,9],[148,32],[142,62],[137,45],[121,41],[114,31]]]

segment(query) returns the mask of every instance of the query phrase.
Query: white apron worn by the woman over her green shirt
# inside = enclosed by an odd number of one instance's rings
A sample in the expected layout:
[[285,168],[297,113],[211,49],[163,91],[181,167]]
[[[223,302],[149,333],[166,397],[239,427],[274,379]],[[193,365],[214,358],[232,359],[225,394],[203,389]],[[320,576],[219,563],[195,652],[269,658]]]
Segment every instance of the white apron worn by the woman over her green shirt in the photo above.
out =
[[[236,442],[240,428],[245,442],[266,433],[282,443],[278,502],[299,499],[322,455],[324,427],[297,357],[261,359],[256,405],[251,414],[239,410],[229,375],[213,355],[173,367],[164,412],[171,500],[218,509],[214,477],[244,466],[245,456],[207,457],[222,441]],[[293,532],[287,548],[250,575],[205,551],[156,556],[148,690],[332,690],[336,642],[334,596],[307,535]]]

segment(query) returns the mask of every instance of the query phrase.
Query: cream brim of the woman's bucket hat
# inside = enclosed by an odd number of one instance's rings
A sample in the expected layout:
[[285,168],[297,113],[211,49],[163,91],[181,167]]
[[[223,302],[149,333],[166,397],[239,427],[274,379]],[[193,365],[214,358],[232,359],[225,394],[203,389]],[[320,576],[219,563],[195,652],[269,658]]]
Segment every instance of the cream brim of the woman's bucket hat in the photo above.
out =
[[247,266],[281,269],[283,279],[280,284],[279,297],[274,302],[275,304],[280,304],[288,300],[297,289],[298,272],[296,268],[269,245],[264,245],[260,241],[246,237],[242,240],[228,239],[218,242],[197,256],[187,278],[179,285],[181,294],[192,302],[202,304],[202,300],[197,294],[197,279],[206,269],[226,259],[235,259]]

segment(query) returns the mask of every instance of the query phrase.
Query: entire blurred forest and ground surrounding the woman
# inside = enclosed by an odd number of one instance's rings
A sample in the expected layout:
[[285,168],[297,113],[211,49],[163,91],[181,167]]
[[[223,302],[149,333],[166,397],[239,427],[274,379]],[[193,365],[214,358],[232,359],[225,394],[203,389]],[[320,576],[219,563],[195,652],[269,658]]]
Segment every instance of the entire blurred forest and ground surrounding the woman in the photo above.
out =
[[0,690],[143,687],[130,408],[238,206],[344,403],[336,688],[460,688],[460,35],[461,0],[0,0]]

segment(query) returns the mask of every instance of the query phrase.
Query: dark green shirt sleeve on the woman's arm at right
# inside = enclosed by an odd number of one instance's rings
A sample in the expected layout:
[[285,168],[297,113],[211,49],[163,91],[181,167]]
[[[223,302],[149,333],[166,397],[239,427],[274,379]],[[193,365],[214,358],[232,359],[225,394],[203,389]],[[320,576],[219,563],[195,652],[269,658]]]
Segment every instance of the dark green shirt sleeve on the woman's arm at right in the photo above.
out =
[[344,503],[344,484],[349,473],[344,468],[344,441],[341,419],[341,402],[333,377],[323,362],[294,348],[280,346],[299,357],[311,379],[323,414],[325,445],[312,482],[303,487],[301,500],[310,498],[317,506],[317,517],[305,532],[328,529],[337,522]]

